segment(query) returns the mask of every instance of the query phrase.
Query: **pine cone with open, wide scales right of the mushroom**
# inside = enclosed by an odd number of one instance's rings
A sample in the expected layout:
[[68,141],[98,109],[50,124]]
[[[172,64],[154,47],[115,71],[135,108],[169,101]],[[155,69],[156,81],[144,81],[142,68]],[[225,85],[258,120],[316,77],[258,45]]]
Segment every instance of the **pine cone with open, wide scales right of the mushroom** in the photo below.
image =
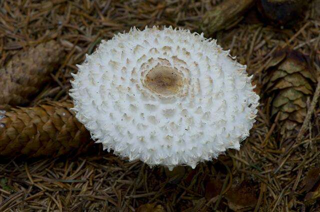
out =
[[303,123],[306,100],[312,98],[315,78],[305,55],[290,49],[278,50],[266,68],[263,84],[271,98],[271,118],[280,113],[281,134],[284,134],[285,130],[293,130]]

